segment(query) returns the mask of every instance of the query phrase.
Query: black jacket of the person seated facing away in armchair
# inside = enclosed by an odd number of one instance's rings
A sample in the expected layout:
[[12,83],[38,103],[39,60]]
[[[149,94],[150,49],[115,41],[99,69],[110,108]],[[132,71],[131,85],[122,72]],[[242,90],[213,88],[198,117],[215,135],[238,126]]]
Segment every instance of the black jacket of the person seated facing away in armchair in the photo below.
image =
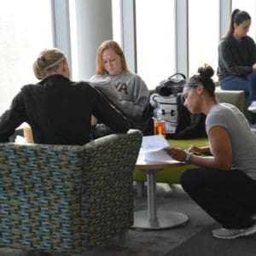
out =
[[113,132],[129,130],[129,122],[105,96],[85,82],[53,75],[21,88],[0,118],[0,142],[8,142],[23,122],[32,126],[35,143],[83,145],[90,141],[95,115]]

